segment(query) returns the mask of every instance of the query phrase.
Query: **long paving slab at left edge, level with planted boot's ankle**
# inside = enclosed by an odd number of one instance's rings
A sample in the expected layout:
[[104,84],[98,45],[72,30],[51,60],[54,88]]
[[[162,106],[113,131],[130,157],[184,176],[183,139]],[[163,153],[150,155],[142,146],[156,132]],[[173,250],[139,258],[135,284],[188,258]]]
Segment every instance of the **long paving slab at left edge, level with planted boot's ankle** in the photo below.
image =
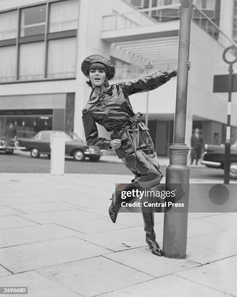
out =
[[36,225],[0,230],[0,247],[11,247],[34,242],[82,234],[55,224]]

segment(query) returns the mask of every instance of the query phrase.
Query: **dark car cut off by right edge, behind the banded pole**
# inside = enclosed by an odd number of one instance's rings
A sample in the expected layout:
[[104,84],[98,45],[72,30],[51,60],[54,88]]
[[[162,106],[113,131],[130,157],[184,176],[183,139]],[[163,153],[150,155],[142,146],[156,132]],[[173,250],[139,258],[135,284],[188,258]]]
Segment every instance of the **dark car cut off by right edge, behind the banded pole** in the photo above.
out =
[[[207,145],[201,163],[206,167],[224,169],[225,146]],[[237,141],[231,146],[230,177],[237,179]]]

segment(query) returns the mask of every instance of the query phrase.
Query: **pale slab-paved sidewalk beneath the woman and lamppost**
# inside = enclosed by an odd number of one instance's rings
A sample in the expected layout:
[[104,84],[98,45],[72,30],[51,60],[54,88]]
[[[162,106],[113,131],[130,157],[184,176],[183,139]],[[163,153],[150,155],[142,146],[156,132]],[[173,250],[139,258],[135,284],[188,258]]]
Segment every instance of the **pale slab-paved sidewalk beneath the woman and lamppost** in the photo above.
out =
[[[0,286],[30,297],[237,296],[237,214],[190,213],[187,257],[157,257],[141,213],[108,215],[115,183],[132,178],[0,173]],[[163,214],[155,223],[162,246]]]

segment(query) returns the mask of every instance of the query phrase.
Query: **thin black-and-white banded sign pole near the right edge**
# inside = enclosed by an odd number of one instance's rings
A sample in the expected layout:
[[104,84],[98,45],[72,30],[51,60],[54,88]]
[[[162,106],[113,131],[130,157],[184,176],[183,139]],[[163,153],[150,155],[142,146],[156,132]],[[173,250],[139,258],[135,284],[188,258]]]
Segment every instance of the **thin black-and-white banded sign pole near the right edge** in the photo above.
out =
[[229,92],[228,92],[228,111],[225,138],[225,162],[224,162],[224,183],[230,183],[230,115],[231,115],[231,93],[233,87],[233,64],[229,66]]

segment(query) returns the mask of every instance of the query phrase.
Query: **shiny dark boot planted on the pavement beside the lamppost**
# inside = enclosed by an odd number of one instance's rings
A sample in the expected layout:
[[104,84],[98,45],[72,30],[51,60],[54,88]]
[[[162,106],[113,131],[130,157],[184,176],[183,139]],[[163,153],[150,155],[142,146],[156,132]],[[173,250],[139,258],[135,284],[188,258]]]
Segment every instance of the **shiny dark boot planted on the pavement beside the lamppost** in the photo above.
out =
[[154,231],[154,213],[145,213],[142,211],[144,220],[144,230],[146,232],[146,242],[154,255],[162,256],[162,249],[156,242],[156,233]]

